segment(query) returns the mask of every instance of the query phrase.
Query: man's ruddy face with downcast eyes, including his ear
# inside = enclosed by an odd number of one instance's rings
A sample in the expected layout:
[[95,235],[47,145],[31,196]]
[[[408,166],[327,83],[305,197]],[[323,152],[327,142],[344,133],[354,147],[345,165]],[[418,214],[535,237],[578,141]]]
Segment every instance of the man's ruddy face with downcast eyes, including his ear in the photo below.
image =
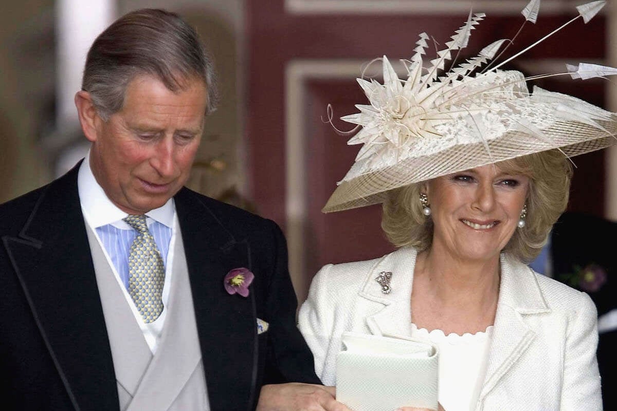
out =
[[172,92],[159,79],[136,76],[122,109],[94,116],[90,164],[107,197],[128,214],[144,214],[175,195],[188,179],[207,106],[206,86],[192,80]]

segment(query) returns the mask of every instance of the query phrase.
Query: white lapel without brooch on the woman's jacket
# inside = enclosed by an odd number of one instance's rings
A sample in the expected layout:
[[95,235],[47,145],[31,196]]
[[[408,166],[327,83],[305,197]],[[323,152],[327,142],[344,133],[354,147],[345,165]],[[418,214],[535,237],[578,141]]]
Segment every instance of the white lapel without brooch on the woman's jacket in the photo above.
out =
[[480,401],[536,338],[525,317],[550,312],[535,274],[529,267],[502,254],[501,269],[499,303]]

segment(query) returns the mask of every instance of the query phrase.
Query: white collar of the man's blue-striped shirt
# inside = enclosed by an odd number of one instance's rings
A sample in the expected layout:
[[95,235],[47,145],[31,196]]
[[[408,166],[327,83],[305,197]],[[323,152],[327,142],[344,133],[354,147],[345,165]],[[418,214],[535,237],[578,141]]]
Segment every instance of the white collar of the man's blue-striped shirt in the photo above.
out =
[[[97,227],[114,224],[118,221],[125,224],[122,219],[125,218],[127,214],[109,200],[101,185],[99,185],[94,178],[94,174],[90,168],[89,150],[79,169],[77,189],[79,192],[81,210],[91,227],[96,229]],[[176,206],[173,202],[173,198],[170,198],[163,206],[148,211],[146,216],[171,229],[173,228],[173,216],[175,212]],[[130,227],[127,225],[125,228],[128,229]]]

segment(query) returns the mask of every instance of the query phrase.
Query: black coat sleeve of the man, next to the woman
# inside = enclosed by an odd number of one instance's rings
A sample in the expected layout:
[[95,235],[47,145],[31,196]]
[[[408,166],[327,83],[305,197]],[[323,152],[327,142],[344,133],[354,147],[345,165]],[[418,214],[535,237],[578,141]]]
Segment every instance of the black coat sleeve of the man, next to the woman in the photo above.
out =
[[320,384],[313,368],[313,356],[296,326],[296,293],[289,278],[287,243],[281,229],[269,221],[275,258],[265,297],[270,319],[265,384]]

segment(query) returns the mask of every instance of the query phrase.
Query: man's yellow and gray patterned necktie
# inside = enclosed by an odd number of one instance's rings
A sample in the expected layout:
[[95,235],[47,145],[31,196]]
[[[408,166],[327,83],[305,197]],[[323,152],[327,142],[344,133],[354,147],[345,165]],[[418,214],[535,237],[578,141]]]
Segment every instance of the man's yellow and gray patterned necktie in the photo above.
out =
[[148,231],[146,216],[129,215],[123,220],[137,231],[128,254],[128,293],[147,324],[163,312],[165,267],[154,237]]

